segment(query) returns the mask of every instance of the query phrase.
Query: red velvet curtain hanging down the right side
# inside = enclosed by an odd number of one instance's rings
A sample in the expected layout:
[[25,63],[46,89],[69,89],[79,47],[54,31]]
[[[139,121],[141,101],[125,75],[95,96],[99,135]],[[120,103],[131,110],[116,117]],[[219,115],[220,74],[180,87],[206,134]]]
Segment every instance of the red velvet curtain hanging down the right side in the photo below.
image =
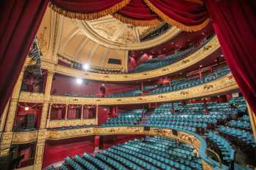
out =
[[256,113],[256,1],[206,0],[222,52]]

